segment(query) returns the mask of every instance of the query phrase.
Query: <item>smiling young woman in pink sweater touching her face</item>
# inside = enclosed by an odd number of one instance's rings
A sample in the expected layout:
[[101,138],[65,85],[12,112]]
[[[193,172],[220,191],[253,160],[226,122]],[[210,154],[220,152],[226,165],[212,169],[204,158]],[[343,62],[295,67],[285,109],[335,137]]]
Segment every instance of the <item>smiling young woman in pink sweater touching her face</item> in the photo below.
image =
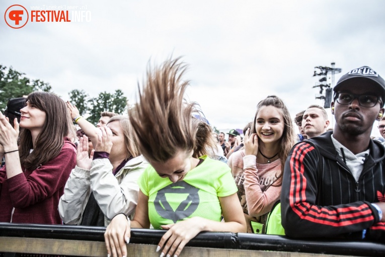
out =
[[227,163],[239,188],[248,232],[251,221],[260,224],[260,233],[265,232],[268,213],[281,196],[284,161],[294,143],[293,124],[283,101],[274,95],[260,101],[252,128],[245,133],[245,148]]

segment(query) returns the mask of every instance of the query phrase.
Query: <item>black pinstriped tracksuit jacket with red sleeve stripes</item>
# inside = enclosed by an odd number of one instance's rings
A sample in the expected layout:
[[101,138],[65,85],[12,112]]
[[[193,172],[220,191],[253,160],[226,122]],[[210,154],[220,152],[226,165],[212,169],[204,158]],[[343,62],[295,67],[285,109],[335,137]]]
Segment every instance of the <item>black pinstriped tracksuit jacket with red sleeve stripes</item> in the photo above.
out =
[[[365,238],[385,241],[385,223],[370,203],[385,202],[385,148],[370,140],[359,181],[327,132],[297,143],[285,163],[282,226],[290,237]],[[385,215],[385,213],[383,213]]]

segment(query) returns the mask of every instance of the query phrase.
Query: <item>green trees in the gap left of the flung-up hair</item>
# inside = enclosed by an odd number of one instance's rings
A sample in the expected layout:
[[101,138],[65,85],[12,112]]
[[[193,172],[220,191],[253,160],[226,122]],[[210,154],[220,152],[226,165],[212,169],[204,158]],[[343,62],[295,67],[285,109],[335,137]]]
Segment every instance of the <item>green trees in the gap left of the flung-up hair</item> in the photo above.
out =
[[98,97],[91,98],[89,103],[92,108],[90,108],[90,116],[87,120],[96,124],[102,111],[123,114],[127,106],[127,97],[123,96],[123,92],[120,89],[117,89],[113,94],[101,92]]

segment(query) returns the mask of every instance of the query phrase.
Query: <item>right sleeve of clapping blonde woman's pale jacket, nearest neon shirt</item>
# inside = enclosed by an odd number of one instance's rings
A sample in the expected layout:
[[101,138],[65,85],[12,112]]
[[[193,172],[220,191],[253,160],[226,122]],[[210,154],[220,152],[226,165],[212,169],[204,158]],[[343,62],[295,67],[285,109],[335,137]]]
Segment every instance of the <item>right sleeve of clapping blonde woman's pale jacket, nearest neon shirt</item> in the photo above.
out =
[[119,213],[131,215],[135,212],[139,195],[137,180],[144,168],[140,164],[131,168],[119,184],[107,158],[92,161],[91,188],[95,200],[108,220]]

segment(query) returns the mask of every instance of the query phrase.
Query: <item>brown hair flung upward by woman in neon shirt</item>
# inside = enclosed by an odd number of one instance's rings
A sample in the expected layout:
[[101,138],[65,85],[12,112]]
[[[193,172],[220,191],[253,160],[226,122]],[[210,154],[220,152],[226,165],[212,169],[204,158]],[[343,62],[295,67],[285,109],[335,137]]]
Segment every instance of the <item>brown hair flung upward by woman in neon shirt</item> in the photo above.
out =
[[206,146],[215,147],[211,127],[192,116],[197,104],[183,98],[189,81],[182,79],[186,65],[179,59],[153,69],[148,65],[139,103],[128,110],[140,151],[149,161],[164,163],[179,151],[193,151],[198,158],[207,154]]

